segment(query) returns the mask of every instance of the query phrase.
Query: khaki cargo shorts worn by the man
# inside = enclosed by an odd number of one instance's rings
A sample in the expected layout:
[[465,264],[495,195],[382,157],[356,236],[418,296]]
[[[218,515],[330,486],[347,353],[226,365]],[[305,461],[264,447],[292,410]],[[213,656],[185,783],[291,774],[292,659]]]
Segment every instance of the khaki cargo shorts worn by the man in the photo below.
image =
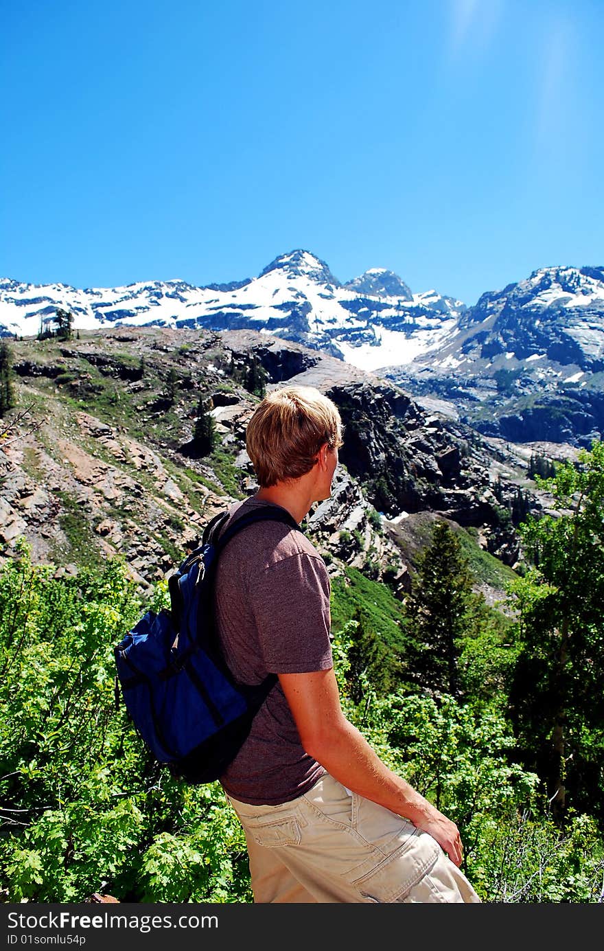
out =
[[328,774],[282,805],[227,799],[254,902],[480,902],[432,836]]

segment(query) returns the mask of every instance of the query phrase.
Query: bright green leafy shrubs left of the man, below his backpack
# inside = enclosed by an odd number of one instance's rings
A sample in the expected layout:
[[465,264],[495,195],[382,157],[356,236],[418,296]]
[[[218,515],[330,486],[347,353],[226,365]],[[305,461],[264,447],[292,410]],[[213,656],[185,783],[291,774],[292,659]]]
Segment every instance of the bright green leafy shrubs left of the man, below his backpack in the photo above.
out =
[[[250,902],[218,784],[155,764],[114,703],[112,648],[142,605],[126,566],[57,579],[25,546],[0,573],[0,881],[10,902]],[[155,601],[165,597],[158,591]]]

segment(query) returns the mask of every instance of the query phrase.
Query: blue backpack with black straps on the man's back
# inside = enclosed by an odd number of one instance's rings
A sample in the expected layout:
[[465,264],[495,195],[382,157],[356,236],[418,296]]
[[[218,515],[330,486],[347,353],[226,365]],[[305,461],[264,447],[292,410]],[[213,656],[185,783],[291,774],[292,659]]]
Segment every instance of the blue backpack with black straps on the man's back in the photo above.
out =
[[114,648],[116,704],[121,687],[146,747],[186,783],[210,783],[222,775],[278,679],[269,673],[250,687],[228,670],[214,618],[217,557],[257,521],[302,531],[290,514],[272,506],[241,515],[221,531],[227,518],[222,512],[208,522],[201,546],[168,579],[170,609],[147,611]]

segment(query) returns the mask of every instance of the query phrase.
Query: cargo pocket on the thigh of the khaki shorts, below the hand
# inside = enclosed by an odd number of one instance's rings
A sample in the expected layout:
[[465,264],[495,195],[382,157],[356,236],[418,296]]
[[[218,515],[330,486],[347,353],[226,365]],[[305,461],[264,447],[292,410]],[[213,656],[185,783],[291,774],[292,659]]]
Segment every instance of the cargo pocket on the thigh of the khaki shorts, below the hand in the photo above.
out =
[[365,902],[404,902],[411,889],[432,870],[439,853],[440,846],[432,836],[416,829],[392,855],[351,884]]

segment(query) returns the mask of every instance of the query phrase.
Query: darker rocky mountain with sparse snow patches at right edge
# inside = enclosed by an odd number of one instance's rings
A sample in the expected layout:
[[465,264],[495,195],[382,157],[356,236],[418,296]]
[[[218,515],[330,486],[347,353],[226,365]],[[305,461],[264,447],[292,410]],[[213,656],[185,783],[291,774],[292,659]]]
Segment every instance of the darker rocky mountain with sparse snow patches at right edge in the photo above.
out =
[[382,376],[481,432],[579,441],[604,431],[604,268],[545,267],[483,294],[454,333]]

